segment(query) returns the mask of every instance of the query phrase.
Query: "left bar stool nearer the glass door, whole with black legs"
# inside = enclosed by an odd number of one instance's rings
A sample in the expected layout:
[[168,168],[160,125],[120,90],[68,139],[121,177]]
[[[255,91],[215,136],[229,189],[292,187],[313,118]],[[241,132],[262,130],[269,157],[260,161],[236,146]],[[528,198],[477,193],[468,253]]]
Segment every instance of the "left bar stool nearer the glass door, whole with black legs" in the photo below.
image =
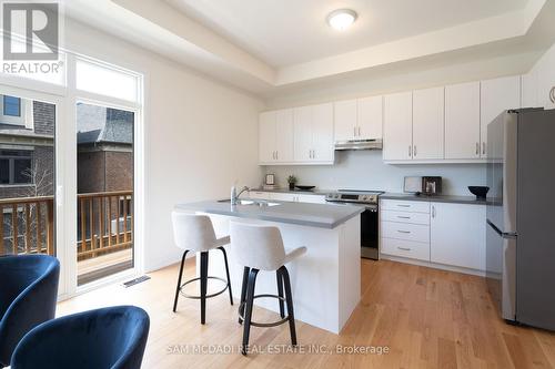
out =
[[[224,245],[230,243],[230,236],[216,238],[214,233],[214,227],[210,217],[205,215],[194,215],[183,212],[172,212],[173,222],[173,238],[178,247],[182,248],[183,257],[181,258],[181,267],[179,269],[178,287],[175,288],[175,299],[173,301],[173,312],[178,308],[178,297],[179,294],[186,298],[200,299],[201,300],[201,324],[205,322],[206,318],[206,298],[215,297],[223,294],[225,289],[230,293],[230,303],[233,305],[233,295],[231,293],[231,279],[230,279],[230,268],[228,266],[228,255],[225,254]],[[209,262],[209,250],[218,248],[223,253],[223,260],[225,263],[225,274],[228,280],[220,277],[212,277],[208,275],[208,262]],[[201,265],[200,265],[200,277],[190,279],[184,284],[181,284],[181,277],[183,276],[183,267],[185,264],[185,256],[189,252],[200,253]],[[214,294],[206,295],[208,280],[218,279],[225,283],[225,287]],[[188,295],[183,291],[183,288],[190,283],[200,280],[201,294],[200,296]]]

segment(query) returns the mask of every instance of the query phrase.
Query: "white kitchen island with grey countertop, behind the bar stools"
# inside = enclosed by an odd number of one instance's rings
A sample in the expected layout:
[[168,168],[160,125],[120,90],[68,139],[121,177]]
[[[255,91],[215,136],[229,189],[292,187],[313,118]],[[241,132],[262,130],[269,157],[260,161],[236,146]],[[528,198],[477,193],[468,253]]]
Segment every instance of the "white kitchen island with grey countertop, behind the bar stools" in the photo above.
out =
[[[305,246],[306,254],[286,265],[297,320],[339,334],[359,304],[363,207],[263,201],[241,201],[231,205],[230,202],[208,201],[179,204],[175,208],[209,215],[219,237],[229,235],[230,222],[241,222],[279,227],[285,249]],[[236,263],[233,247],[228,245],[225,248],[230,254],[232,289],[239,306],[243,266]],[[211,253],[209,274],[225,278],[221,253]],[[275,274],[261,271],[256,278],[256,295],[275,295],[276,291]],[[255,304],[279,311],[275,299],[256,299]]]

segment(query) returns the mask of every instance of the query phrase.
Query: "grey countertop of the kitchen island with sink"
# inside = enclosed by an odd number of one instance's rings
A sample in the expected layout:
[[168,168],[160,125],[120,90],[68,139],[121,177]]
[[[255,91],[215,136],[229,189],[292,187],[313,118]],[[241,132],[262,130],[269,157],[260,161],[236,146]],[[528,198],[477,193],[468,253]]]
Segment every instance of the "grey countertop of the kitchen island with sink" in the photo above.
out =
[[333,229],[364,211],[356,205],[278,202],[275,206],[231,205],[229,201],[178,204],[176,209]]

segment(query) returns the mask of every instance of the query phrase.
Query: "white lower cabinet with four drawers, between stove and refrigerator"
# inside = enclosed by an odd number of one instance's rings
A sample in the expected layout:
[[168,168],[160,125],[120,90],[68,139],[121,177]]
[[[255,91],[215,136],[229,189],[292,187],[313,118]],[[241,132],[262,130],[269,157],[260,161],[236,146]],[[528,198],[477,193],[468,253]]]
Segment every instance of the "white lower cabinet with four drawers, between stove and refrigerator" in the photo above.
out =
[[382,199],[380,206],[382,254],[485,270],[485,205]]

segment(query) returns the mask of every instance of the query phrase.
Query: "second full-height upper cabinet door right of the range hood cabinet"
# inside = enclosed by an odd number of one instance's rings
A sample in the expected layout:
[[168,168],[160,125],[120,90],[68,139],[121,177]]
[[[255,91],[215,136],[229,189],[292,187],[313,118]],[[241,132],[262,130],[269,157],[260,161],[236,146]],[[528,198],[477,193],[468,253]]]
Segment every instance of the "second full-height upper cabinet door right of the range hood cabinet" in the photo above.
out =
[[413,92],[413,158],[444,157],[445,89]]

